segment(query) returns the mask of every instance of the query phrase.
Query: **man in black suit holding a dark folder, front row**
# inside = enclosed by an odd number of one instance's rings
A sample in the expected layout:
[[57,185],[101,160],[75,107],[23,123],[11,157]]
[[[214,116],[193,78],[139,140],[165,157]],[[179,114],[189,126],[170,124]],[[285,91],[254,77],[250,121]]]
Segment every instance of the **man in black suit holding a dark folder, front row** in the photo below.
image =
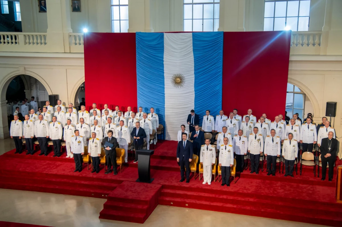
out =
[[[106,150],[106,160],[107,160],[107,171],[105,174],[111,173],[111,165],[113,164],[113,172],[114,175],[118,174],[117,173],[117,164],[116,164],[116,147],[118,146],[118,142],[115,137],[113,137],[113,131],[108,130],[107,135],[103,140],[102,140],[102,145]],[[106,145],[107,143],[107,145]],[[109,146],[109,144],[113,144],[113,146]]]

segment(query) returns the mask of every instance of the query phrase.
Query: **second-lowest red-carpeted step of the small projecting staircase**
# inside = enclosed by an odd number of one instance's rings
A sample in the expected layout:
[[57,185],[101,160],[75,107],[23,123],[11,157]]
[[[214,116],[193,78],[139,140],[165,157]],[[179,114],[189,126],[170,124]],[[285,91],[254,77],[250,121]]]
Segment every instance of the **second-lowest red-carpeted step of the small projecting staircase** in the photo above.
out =
[[148,210],[148,205],[107,200],[103,204],[103,209],[146,214]]

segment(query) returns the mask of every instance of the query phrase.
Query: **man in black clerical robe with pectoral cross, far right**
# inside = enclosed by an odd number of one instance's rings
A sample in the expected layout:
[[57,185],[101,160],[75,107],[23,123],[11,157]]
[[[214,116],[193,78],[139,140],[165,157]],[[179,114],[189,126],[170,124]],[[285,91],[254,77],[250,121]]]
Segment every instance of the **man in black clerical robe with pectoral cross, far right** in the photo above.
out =
[[332,181],[332,176],[334,173],[334,162],[336,160],[337,152],[337,139],[332,138],[334,133],[332,131],[328,132],[328,138],[322,139],[320,152],[322,160],[322,181],[325,180],[327,172],[327,164],[329,164],[329,181]]

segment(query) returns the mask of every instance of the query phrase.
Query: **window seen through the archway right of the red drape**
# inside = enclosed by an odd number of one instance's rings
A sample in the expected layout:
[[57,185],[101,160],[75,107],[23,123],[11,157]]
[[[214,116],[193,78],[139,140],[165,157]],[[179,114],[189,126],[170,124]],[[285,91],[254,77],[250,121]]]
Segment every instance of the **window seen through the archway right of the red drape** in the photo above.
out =
[[296,86],[287,84],[286,89],[286,106],[287,115],[292,118],[295,113],[304,119],[305,94]]

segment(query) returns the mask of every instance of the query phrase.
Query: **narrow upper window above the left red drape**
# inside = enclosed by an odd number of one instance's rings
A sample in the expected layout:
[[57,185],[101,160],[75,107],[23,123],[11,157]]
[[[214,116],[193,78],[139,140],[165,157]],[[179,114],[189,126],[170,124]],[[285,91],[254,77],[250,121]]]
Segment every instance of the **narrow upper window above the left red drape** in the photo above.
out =
[[128,0],[111,0],[111,32],[128,31]]

